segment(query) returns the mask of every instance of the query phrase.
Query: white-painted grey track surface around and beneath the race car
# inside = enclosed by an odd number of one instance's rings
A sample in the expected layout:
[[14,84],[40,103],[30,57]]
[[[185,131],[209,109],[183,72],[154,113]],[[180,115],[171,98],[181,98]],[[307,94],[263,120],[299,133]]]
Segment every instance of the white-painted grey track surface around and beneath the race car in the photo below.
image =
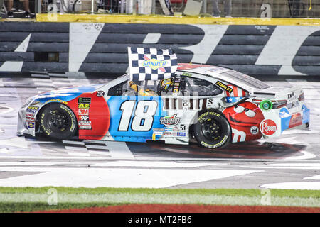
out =
[[48,140],[18,137],[17,111],[40,92],[105,83],[85,74],[0,74],[0,187],[151,187],[320,189],[320,80],[267,81],[302,85],[310,127],[279,138],[237,143],[223,150],[163,143]]

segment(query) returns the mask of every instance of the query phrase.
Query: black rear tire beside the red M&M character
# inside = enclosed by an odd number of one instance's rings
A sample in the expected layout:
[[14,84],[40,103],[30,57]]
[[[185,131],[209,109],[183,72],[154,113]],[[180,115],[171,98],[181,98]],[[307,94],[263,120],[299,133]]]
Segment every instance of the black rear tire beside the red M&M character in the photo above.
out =
[[193,135],[205,148],[224,148],[230,143],[231,127],[223,114],[215,110],[201,111],[193,126]]

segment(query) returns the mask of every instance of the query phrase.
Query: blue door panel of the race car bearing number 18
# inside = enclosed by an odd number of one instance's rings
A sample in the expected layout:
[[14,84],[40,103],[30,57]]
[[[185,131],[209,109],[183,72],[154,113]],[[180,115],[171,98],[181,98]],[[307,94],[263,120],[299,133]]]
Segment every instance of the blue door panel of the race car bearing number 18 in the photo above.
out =
[[[162,111],[158,95],[143,96],[128,87],[129,82],[110,88],[107,104],[110,109],[109,135],[117,141],[145,142],[151,140],[154,131],[164,128],[160,123]],[[142,82],[139,89],[148,89]]]

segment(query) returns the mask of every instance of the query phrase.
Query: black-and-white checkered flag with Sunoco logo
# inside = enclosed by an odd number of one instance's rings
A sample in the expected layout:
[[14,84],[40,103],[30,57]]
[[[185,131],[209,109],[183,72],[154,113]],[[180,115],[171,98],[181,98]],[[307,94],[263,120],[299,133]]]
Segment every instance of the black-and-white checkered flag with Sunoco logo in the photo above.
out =
[[176,54],[156,48],[129,48],[130,80],[168,79],[178,68]]

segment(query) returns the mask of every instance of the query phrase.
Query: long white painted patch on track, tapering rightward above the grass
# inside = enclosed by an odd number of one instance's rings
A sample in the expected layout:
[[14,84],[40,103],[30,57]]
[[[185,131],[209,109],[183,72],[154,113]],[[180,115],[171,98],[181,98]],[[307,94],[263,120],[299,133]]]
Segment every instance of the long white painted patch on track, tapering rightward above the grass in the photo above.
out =
[[170,170],[104,168],[0,167],[0,171],[43,172],[0,179],[0,187],[146,187],[162,188],[238,175],[257,170]]

